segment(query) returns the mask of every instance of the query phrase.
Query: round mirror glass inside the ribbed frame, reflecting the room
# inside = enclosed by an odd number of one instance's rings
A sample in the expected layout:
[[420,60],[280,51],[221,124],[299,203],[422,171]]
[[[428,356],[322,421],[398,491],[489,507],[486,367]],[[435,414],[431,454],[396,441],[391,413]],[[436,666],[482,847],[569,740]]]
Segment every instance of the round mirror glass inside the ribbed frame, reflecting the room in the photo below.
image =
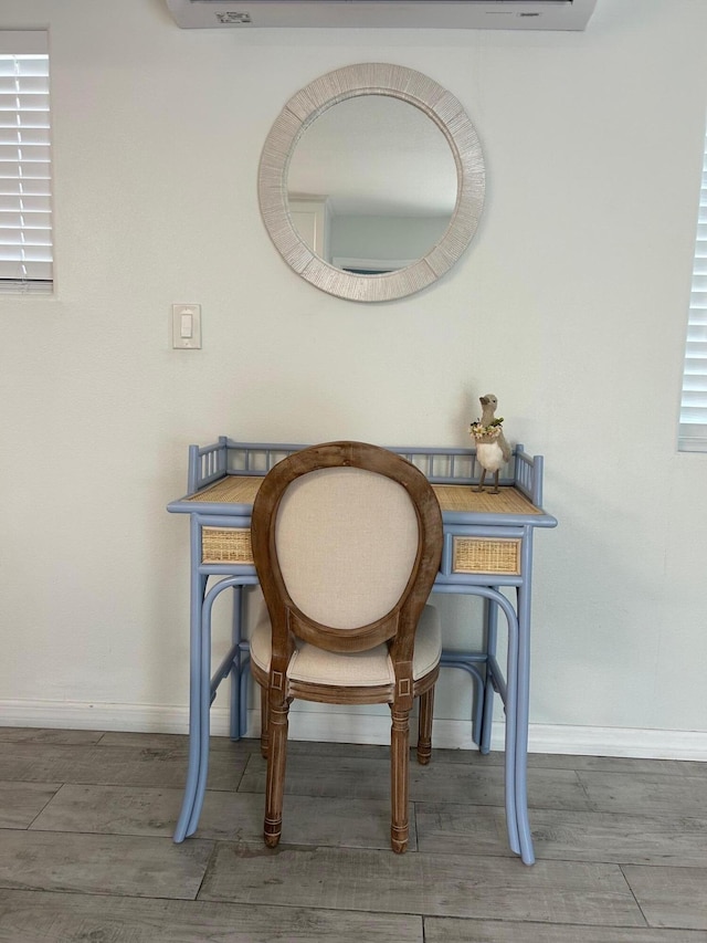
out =
[[450,144],[420,108],[388,95],[338,102],[304,132],[287,170],[299,238],[337,269],[405,268],[442,239],[457,171]]

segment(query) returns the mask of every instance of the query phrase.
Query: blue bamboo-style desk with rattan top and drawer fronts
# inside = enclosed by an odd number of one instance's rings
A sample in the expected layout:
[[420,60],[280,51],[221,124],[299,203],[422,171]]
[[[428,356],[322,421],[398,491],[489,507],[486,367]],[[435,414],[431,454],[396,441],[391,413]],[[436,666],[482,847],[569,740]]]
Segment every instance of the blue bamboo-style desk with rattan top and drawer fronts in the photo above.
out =
[[[192,835],[207,786],[209,713],[221,681],[231,677],[231,737],[245,733],[249,645],[244,637],[244,594],[257,584],[250,525],[263,476],[302,446],[235,442],[189,449],[184,497],[168,511],[189,514],[191,524],[191,654],[189,768],[175,841]],[[506,714],[505,807],[508,841],[526,865],[535,860],[528,824],[527,750],[532,534],[555,527],[542,510],[542,457],[516,446],[500,479],[500,491],[477,492],[481,468],[474,449],[394,448],[428,476],[444,522],[444,551],[435,593],[481,596],[484,646],[481,651],[444,651],[442,664],[462,668],[474,680],[472,734],[482,753],[490,750],[494,693]],[[209,579],[211,578],[211,585]],[[217,597],[233,589],[232,646],[215,673],[211,667],[211,612]],[[503,590],[506,590],[505,593]],[[515,598],[514,598],[515,597]],[[505,672],[496,659],[498,612],[508,630]]]

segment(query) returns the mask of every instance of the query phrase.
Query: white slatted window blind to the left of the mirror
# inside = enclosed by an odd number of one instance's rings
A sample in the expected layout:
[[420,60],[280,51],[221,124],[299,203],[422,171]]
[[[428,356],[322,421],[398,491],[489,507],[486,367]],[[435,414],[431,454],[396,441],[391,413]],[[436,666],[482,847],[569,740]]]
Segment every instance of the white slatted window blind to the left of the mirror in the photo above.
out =
[[0,291],[51,291],[49,55],[43,32],[0,32]]

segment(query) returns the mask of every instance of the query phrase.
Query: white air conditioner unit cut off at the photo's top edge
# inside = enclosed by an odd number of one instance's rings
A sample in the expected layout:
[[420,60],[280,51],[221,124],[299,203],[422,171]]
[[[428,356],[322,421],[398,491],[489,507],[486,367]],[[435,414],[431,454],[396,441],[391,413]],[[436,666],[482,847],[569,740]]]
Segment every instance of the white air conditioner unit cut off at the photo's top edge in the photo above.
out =
[[182,29],[583,30],[597,0],[167,0]]

